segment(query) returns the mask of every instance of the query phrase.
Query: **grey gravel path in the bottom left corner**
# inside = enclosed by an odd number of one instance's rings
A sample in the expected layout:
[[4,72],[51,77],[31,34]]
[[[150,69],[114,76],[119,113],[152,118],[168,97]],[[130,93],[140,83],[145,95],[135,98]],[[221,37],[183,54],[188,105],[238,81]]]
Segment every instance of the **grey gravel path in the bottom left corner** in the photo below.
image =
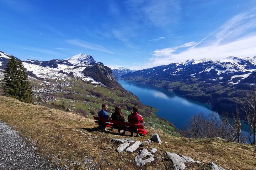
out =
[[54,169],[27,145],[19,132],[0,120],[0,169],[1,170],[51,170]]

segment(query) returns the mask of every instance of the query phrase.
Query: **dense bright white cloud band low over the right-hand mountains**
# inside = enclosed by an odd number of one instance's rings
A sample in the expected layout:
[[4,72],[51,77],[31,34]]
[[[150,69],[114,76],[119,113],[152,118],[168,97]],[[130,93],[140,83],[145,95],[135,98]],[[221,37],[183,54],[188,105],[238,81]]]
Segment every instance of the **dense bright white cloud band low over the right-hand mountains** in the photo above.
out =
[[254,57],[256,55],[256,35],[245,37],[224,45],[216,44],[205,47],[194,47],[175,54],[177,48],[166,48],[155,50],[149,62],[143,68],[155,67],[167,63],[184,62],[186,60],[202,58],[225,58],[235,57]]

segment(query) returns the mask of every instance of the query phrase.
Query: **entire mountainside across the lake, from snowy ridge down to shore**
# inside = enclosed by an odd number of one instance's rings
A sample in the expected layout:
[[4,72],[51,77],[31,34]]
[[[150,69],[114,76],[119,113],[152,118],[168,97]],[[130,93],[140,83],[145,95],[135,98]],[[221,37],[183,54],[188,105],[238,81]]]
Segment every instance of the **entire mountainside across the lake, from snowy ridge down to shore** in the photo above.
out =
[[208,103],[219,113],[235,113],[235,104],[255,85],[256,57],[188,60],[124,74],[121,79],[173,90],[192,100]]

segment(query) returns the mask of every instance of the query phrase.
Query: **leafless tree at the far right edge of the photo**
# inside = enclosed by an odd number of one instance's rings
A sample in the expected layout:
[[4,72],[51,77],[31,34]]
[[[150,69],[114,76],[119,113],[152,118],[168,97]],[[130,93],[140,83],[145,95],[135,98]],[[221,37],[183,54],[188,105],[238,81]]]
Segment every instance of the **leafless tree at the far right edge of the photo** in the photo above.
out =
[[[251,145],[255,145],[256,139],[256,89],[251,87],[249,97],[242,101],[242,109],[246,115],[246,123],[249,124],[248,137]],[[252,137],[252,140],[251,140]]]

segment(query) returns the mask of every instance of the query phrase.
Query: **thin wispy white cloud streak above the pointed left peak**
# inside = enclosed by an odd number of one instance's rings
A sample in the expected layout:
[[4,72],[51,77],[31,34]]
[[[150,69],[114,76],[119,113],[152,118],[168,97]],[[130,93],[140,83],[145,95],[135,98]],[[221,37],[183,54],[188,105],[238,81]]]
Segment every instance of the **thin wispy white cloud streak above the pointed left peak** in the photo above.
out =
[[107,50],[105,47],[97,44],[92,44],[91,42],[78,40],[78,39],[71,39],[71,40],[65,40],[68,44],[84,47],[86,49],[96,50],[96,51],[102,51],[110,54],[114,54],[114,52]]

